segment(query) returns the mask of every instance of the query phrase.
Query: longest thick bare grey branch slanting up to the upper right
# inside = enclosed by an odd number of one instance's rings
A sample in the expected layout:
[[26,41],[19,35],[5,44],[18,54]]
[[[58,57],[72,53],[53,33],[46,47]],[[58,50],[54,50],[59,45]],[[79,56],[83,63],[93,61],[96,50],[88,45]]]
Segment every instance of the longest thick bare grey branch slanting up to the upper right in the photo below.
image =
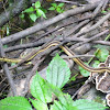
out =
[[44,22],[41,22],[41,23],[37,23],[36,25],[34,26],[31,26],[26,30],[23,30],[19,33],[15,33],[13,35],[10,35],[8,37],[3,37],[2,38],[2,44],[7,44],[7,43],[10,43],[10,42],[13,42],[13,41],[16,41],[16,40],[20,40],[20,38],[23,38],[28,35],[31,35],[40,30],[43,30],[47,26],[50,26],[51,24],[53,23],[56,23],[63,19],[66,19],[67,16],[70,16],[70,15],[75,15],[75,14],[78,14],[78,13],[81,13],[81,12],[85,12],[85,11],[88,11],[88,10],[92,10],[97,7],[98,4],[88,4],[86,7],[80,7],[80,8],[76,8],[76,9],[72,9],[72,10],[68,10],[53,19],[50,19],[50,20],[45,20]]

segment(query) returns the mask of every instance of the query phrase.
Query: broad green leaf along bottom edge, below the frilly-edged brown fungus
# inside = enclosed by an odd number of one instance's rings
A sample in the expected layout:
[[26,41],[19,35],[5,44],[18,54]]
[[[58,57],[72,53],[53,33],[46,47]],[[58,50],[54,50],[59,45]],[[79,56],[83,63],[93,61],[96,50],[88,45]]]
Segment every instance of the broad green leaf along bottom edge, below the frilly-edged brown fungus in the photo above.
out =
[[101,103],[86,99],[76,100],[73,102],[73,106],[77,107],[78,110],[105,110],[107,108]]

